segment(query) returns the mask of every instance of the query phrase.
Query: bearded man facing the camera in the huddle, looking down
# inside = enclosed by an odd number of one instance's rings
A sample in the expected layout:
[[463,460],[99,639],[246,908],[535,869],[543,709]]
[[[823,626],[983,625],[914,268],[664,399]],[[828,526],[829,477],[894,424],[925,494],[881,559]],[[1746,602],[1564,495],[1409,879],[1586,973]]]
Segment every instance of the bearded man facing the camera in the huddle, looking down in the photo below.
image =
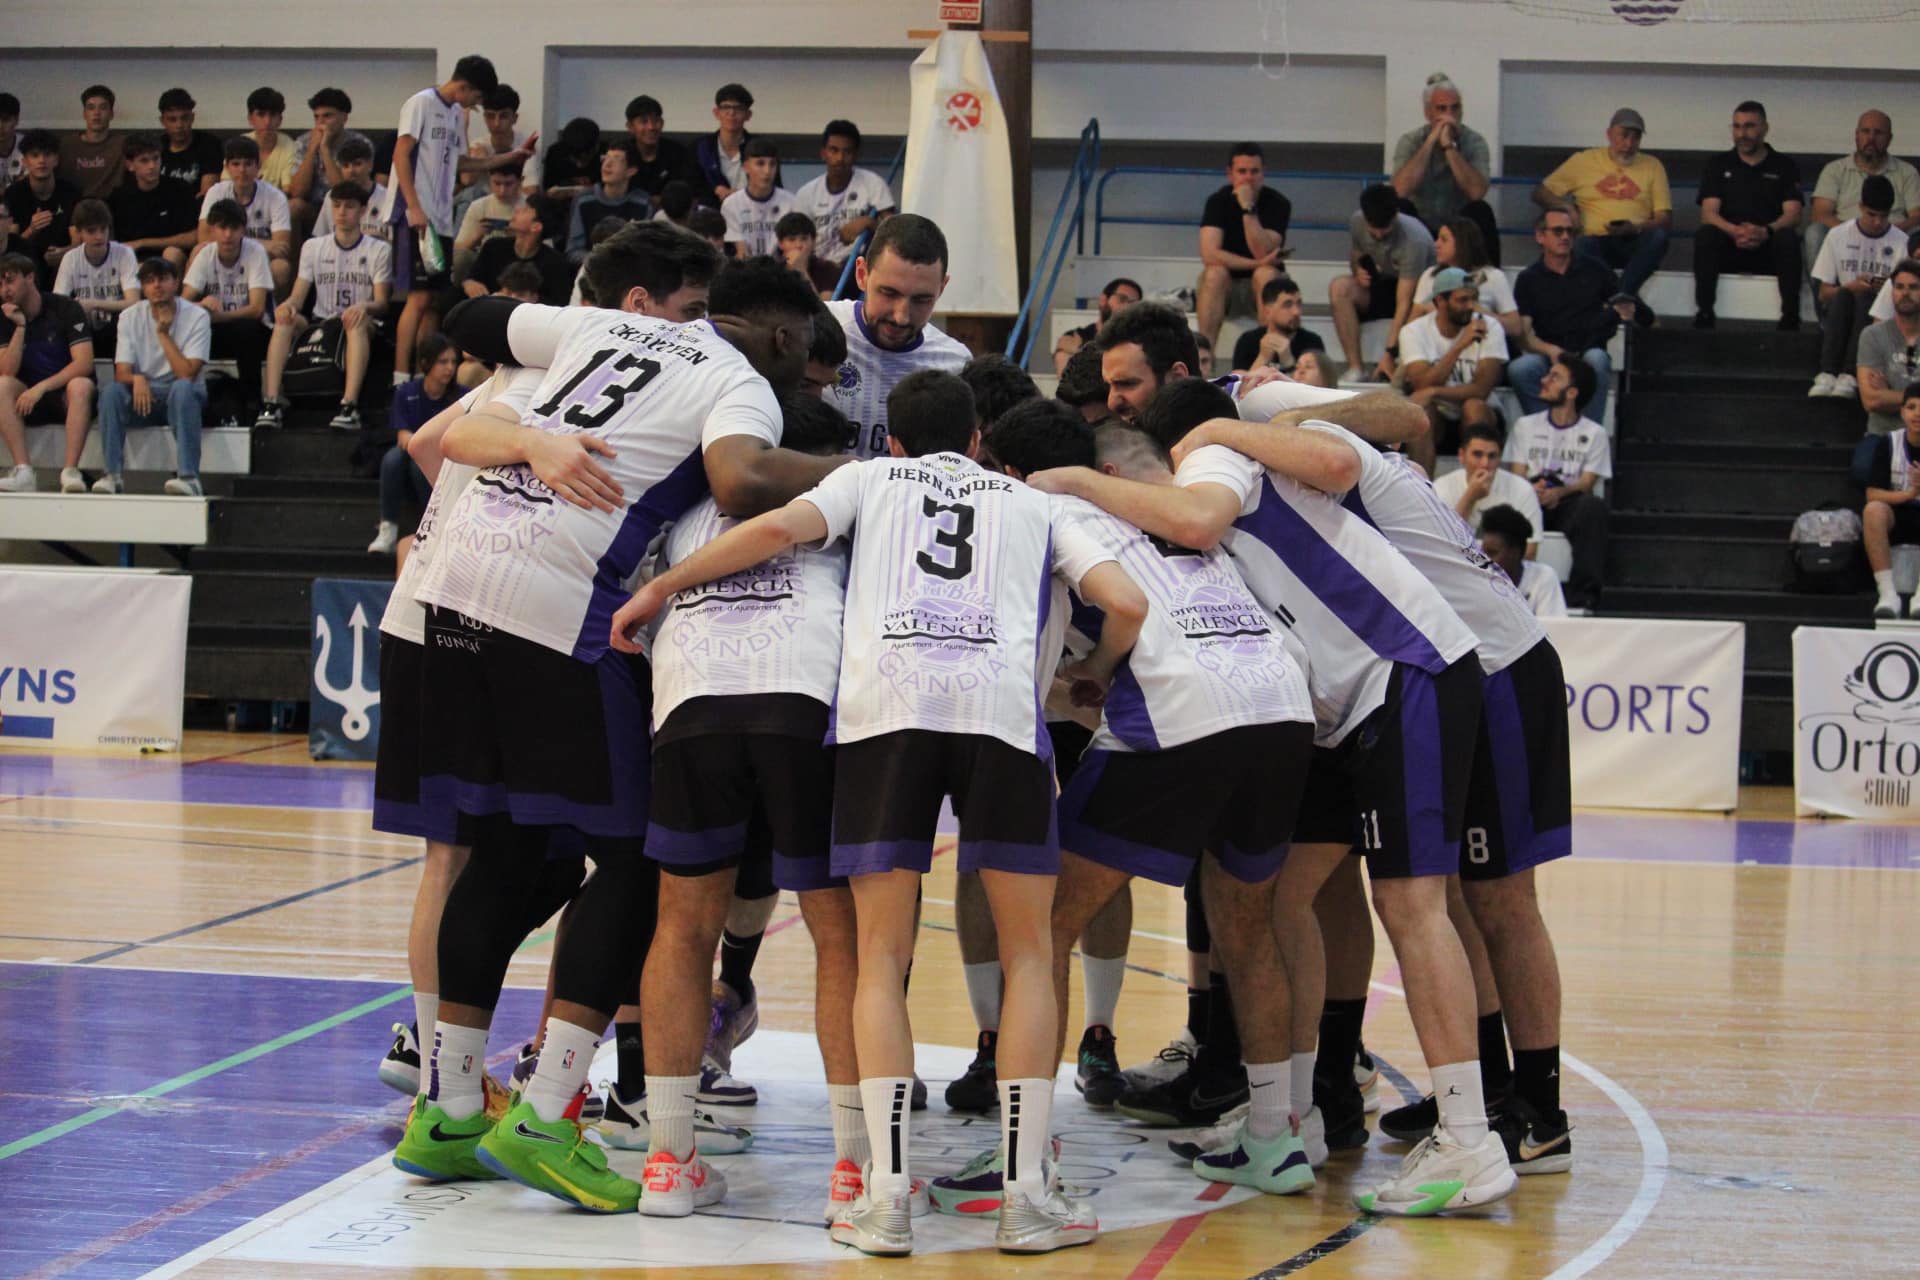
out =
[[860,297],[828,303],[847,332],[847,359],[828,395],[852,422],[847,453],[874,459],[887,455],[887,397],[900,378],[922,368],[956,374],[973,353],[933,324],[947,288],[947,236],[931,219],[897,213],[881,223],[852,278]]

